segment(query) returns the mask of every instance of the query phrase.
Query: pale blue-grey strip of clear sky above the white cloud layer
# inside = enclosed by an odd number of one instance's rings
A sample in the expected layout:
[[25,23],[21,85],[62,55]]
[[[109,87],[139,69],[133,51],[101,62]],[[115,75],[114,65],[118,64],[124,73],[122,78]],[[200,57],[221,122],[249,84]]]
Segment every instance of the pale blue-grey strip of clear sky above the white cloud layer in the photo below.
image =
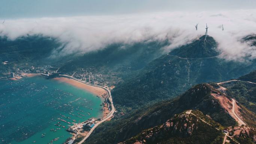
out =
[[0,0],[0,19],[255,9],[256,0]]

